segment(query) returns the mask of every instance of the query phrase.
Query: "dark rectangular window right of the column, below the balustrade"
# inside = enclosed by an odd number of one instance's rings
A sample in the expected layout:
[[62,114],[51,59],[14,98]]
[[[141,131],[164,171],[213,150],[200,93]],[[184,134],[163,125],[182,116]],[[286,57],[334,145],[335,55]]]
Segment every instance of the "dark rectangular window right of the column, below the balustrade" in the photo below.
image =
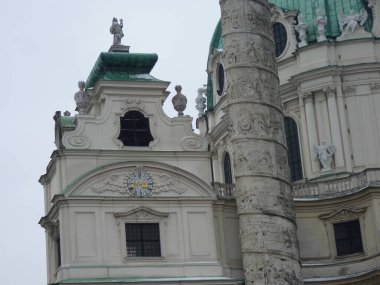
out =
[[363,252],[359,220],[334,224],[337,255]]

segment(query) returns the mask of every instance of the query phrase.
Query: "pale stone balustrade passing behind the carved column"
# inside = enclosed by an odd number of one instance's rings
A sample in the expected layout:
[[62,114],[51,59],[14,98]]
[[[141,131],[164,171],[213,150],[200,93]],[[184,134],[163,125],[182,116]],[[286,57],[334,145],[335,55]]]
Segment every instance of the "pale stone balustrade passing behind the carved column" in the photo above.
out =
[[[328,199],[358,192],[368,186],[380,186],[380,169],[366,169],[350,176],[332,180],[298,181],[294,183],[295,199]],[[219,199],[235,199],[234,184],[213,182],[212,186]]]

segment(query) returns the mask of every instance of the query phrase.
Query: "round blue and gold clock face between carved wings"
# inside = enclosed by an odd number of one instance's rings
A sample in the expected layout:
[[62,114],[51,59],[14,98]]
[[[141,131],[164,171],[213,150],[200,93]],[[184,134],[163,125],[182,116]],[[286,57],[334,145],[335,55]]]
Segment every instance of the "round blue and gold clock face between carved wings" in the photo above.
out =
[[127,187],[133,196],[149,196],[153,191],[153,180],[147,171],[136,169],[129,174]]

